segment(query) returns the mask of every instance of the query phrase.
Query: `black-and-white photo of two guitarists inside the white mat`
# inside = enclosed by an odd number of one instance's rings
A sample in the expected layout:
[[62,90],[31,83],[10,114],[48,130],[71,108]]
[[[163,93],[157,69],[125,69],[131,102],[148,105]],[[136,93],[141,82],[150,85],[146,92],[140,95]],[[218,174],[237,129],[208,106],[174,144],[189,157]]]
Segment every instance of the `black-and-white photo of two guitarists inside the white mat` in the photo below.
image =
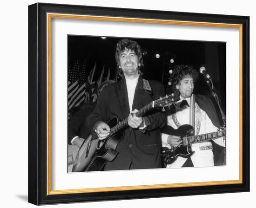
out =
[[225,42],[67,39],[68,172],[226,165]]

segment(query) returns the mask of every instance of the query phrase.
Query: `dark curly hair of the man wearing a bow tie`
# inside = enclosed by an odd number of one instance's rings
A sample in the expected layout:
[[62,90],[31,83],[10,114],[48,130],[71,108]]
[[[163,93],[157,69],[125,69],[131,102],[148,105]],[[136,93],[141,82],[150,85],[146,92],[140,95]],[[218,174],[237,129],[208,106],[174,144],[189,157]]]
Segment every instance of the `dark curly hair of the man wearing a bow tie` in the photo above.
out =
[[171,88],[177,91],[176,85],[185,77],[191,77],[194,81],[198,78],[198,72],[191,65],[176,65],[170,74]]

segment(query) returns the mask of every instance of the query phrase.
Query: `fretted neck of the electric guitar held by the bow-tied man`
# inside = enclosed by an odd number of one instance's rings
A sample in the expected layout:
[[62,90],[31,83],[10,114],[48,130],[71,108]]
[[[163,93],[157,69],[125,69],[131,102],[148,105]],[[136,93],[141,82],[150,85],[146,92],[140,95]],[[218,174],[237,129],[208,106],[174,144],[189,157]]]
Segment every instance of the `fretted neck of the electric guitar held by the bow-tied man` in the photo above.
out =
[[193,144],[193,143],[208,141],[208,140],[211,140],[211,139],[217,139],[217,138],[220,138],[222,136],[225,136],[225,131],[223,131],[223,130],[212,132],[212,133],[207,133],[207,134],[187,136],[185,138],[187,139],[187,142],[189,144]]

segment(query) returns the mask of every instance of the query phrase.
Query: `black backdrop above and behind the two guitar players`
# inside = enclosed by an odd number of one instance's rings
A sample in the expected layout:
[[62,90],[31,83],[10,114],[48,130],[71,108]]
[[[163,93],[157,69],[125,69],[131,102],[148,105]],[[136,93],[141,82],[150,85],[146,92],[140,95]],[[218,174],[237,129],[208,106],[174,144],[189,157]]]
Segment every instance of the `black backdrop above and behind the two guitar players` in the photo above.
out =
[[[134,39],[134,38],[132,38]],[[72,68],[76,60],[80,65],[86,60],[86,74],[89,75],[96,63],[95,81],[105,66],[105,76],[110,69],[110,79],[115,79],[116,62],[115,48],[120,38],[68,35],[69,66]],[[134,39],[143,52],[143,77],[161,81],[166,92],[168,87],[168,71],[175,65],[193,65],[199,71],[201,66],[212,78],[214,90],[217,93],[222,110],[226,112],[226,43],[209,41],[165,40],[165,39]],[[158,53],[160,58],[156,58]],[[174,58],[174,63],[170,59]],[[104,80],[103,80],[104,81]],[[195,83],[194,93],[208,95],[211,93],[208,85],[200,74]]]

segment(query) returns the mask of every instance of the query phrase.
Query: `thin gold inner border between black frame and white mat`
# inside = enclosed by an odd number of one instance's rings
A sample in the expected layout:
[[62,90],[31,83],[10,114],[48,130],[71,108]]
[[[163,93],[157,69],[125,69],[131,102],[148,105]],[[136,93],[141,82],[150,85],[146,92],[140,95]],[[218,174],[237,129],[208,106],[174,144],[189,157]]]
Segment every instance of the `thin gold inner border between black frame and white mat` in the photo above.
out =
[[[52,71],[52,53],[51,53],[51,29],[52,19],[77,19],[77,20],[100,20],[114,22],[138,22],[151,24],[168,24],[168,25],[185,25],[185,26],[210,26],[210,27],[227,27],[239,28],[239,180],[215,181],[215,182],[189,182],[189,183],[172,183],[157,185],[141,185],[141,186],[122,186],[107,188],[88,188],[88,189],[63,189],[52,190],[51,180],[51,71]],[[142,18],[123,18],[108,16],[92,16],[92,15],[75,15],[64,13],[47,13],[47,195],[61,194],[78,194],[93,193],[107,191],[127,191],[127,190],[143,190],[143,189],[164,189],[164,188],[180,188],[180,187],[196,187],[196,186],[212,186],[243,183],[243,25],[226,24],[214,22],[195,22],[180,20],[158,20],[158,19],[142,19]]]

